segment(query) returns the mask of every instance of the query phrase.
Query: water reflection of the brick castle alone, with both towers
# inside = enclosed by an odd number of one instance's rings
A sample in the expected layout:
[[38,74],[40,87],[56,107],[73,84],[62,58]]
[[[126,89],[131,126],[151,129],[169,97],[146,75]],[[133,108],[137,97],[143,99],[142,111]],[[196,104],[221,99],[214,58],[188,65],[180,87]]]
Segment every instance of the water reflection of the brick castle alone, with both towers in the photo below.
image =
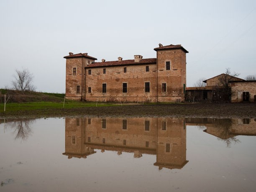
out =
[[156,154],[159,169],[181,169],[188,162],[184,118],[66,118],[64,155],[86,158],[94,149]]

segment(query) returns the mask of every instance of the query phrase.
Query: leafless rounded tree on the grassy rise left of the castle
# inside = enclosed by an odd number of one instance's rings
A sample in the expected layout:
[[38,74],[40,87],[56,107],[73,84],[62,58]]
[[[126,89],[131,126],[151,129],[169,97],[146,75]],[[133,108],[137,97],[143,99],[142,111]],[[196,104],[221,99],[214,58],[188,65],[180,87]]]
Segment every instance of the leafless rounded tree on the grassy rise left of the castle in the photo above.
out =
[[19,91],[34,91],[36,87],[32,84],[33,74],[31,74],[28,69],[15,70],[16,74],[14,80],[12,81],[13,88]]

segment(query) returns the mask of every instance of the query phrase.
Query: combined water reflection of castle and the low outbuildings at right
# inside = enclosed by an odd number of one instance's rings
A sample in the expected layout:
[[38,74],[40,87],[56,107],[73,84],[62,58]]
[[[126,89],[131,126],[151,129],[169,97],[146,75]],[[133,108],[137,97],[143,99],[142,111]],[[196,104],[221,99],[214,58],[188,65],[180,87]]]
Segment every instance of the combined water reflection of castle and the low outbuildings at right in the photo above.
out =
[[156,155],[155,166],[182,169],[186,159],[186,125],[202,127],[227,146],[235,136],[256,135],[255,119],[213,118],[66,118],[65,153],[86,158],[95,149]]

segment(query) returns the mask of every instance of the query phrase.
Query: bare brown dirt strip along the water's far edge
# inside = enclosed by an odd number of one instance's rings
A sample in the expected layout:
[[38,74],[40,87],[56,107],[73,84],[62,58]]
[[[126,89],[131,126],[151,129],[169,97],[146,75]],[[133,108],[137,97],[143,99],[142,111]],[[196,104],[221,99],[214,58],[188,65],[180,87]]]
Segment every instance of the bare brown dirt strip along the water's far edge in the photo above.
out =
[[200,117],[200,118],[256,118],[256,103],[184,103],[154,105],[123,105],[72,109],[45,109],[0,113],[0,118],[50,117]]

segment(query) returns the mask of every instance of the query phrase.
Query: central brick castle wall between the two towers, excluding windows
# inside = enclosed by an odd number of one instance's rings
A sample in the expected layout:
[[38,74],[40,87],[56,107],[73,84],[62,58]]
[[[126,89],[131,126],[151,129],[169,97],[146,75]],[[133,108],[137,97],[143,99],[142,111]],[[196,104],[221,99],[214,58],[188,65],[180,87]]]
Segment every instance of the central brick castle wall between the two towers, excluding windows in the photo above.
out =
[[[149,72],[146,72],[146,66]],[[145,82],[150,82],[150,92],[145,92]],[[107,87],[106,93],[102,93],[103,83]],[[127,83],[126,93],[123,83]],[[88,87],[91,87],[91,93],[88,93]],[[156,64],[87,68],[85,89],[87,101],[156,102]]]

